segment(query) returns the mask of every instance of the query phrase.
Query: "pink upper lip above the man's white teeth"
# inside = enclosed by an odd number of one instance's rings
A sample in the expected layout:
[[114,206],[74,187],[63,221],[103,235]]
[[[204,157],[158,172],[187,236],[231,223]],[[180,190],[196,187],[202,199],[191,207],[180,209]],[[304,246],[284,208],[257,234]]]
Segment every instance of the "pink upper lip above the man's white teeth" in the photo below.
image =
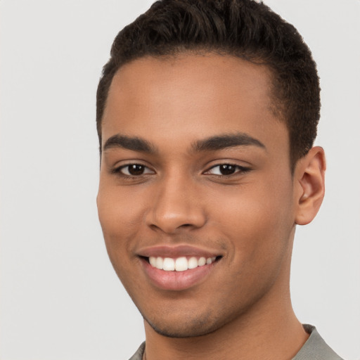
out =
[[137,254],[141,257],[218,257],[221,254],[214,250],[198,248],[193,245],[155,245],[141,248]]

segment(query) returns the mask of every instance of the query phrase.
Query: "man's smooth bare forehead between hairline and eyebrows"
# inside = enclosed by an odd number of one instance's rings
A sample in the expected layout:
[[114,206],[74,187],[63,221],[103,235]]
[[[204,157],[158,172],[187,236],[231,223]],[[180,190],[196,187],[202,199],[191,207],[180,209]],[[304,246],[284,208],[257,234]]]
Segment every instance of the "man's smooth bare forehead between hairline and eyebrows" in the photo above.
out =
[[280,124],[272,103],[271,72],[264,65],[215,54],[140,58],[113,78],[103,142],[117,133],[155,142],[234,131],[266,137]]

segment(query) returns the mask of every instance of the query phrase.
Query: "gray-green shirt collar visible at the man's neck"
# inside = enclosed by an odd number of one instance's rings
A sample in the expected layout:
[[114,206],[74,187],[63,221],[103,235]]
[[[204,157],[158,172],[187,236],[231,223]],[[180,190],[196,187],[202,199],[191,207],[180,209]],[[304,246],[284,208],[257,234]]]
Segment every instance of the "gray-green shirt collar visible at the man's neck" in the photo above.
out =
[[[315,326],[307,324],[303,326],[310,336],[292,360],[343,360],[321,338]],[[140,345],[137,352],[129,360],[142,360],[144,351],[145,342]]]

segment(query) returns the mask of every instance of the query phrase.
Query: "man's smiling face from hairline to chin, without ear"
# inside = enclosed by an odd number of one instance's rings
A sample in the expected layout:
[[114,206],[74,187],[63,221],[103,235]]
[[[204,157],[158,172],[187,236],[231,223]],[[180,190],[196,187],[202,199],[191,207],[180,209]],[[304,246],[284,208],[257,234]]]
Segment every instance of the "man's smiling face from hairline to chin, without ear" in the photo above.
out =
[[293,178],[269,89],[266,67],[211,54],[134,60],[113,79],[98,214],[158,333],[210,333],[288,288]]

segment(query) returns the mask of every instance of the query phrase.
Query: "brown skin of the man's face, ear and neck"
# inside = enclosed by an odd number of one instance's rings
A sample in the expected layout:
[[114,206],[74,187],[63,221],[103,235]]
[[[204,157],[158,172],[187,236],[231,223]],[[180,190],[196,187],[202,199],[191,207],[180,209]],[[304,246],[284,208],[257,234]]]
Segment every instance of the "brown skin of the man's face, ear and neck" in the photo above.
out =
[[[155,150],[103,148],[97,198],[110,260],[144,318],[148,360],[291,359],[307,340],[290,302],[290,259],[295,224],[321,205],[325,160],[312,148],[291,174],[270,84],[265,66],[214,54],[141,58],[113,79],[103,147],[120,135]],[[224,134],[263,146],[194,150]],[[131,164],[143,174],[129,174]],[[233,174],[221,176],[221,164]],[[164,244],[221,259],[191,288],[159,289],[138,255]]]

